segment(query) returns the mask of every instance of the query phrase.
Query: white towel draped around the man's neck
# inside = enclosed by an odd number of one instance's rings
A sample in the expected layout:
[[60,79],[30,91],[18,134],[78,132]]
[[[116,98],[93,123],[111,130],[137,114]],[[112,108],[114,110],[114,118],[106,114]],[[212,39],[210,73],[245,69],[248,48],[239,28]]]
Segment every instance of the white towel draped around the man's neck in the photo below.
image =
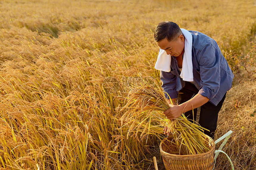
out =
[[[185,51],[183,54],[182,70],[180,77],[183,81],[193,81],[193,65],[192,65],[192,35],[185,29],[182,29],[185,38]],[[166,51],[160,49],[155,69],[170,72],[171,71],[171,55],[167,55]]]

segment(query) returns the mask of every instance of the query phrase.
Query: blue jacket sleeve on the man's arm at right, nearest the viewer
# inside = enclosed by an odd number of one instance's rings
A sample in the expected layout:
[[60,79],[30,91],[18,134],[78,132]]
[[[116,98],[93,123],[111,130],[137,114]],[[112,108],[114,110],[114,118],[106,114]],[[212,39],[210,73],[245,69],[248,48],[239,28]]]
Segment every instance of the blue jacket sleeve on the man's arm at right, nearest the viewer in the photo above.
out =
[[204,46],[198,58],[200,67],[200,89],[198,94],[209,100],[217,94],[220,87],[220,54],[213,45]]

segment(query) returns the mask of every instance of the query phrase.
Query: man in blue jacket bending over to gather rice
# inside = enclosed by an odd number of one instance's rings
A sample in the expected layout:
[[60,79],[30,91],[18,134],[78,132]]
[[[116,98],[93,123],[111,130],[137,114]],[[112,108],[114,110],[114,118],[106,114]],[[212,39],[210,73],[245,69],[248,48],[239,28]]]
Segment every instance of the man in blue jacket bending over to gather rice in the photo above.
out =
[[[169,21],[156,26],[154,39],[160,47],[155,69],[160,70],[170,104],[163,113],[169,119],[184,113],[193,121],[201,106],[199,125],[210,130],[204,133],[213,138],[218,112],[234,78],[218,44],[203,33],[180,29]],[[171,105],[176,99],[178,105]],[[166,134],[167,127],[164,131]]]

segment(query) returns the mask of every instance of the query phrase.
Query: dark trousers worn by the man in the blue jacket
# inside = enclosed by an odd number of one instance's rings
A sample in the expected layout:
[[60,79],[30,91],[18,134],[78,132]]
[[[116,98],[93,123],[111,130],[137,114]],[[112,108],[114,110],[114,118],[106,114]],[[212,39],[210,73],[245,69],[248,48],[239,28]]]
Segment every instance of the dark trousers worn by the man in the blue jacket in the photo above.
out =
[[[190,82],[185,82],[185,86],[183,89],[181,89],[178,93],[178,103],[184,103],[188,100],[190,100],[193,96],[195,96],[199,90],[196,88],[196,86]],[[221,106],[225,100],[226,94],[221,99],[221,101],[218,103],[217,106],[213,105],[210,102],[205,103],[201,106],[200,110],[200,117],[199,117],[199,125],[202,126],[205,129],[208,129],[210,131],[204,131],[205,134],[210,136],[211,138],[214,137],[214,132],[217,128],[217,120],[218,120],[218,113],[221,110]],[[193,120],[196,121],[196,112],[197,108],[194,109],[194,117],[192,110],[185,112],[185,116],[189,119],[189,121],[193,122]]]

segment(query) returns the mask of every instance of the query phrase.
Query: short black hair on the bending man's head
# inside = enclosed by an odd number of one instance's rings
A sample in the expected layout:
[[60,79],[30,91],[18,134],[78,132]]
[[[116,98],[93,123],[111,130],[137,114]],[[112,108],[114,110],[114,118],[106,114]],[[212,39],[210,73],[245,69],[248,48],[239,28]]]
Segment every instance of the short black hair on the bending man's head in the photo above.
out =
[[156,26],[154,31],[154,39],[156,42],[165,38],[168,41],[173,41],[180,34],[182,34],[182,31],[176,23],[171,21],[163,21]]

